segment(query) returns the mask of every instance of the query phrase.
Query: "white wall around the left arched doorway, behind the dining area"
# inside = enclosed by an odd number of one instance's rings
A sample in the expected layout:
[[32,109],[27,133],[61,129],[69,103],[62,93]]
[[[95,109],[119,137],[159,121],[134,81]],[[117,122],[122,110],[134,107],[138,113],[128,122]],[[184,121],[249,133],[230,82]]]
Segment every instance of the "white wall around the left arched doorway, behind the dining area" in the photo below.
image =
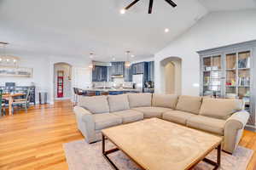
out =
[[[0,86],[4,86],[5,82],[16,82],[17,86],[30,86],[32,82],[36,86],[36,100],[38,102],[38,92],[45,91],[48,93],[48,102],[50,104],[54,103],[54,64],[59,62],[65,62],[73,67],[72,75],[72,87],[76,86],[74,82],[79,82],[80,88],[84,84],[84,88],[87,84],[90,84],[90,79],[75,80],[83,76],[91,74],[91,70],[88,69],[90,61],[86,58],[79,57],[62,57],[62,56],[48,56],[45,54],[16,54],[15,52],[9,51],[8,54],[12,54],[20,57],[20,67],[29,67],[33,68],[33,77],[24,78],[24,77],[0,77]],[[84,69],[79,72],[79,77],[76,75],[78,68]],[[82,76],[81,76],[82,75]]]

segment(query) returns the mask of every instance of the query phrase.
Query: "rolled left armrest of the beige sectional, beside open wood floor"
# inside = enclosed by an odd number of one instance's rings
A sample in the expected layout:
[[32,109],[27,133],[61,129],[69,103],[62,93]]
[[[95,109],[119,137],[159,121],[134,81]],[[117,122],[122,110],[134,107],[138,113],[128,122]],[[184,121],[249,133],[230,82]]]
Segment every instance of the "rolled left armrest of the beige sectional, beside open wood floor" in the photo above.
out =
[[96,139],[95,119],[90,111],[80,106],[75,106],[73,111],[76,114],[79,130],[83,133],[88,143],[94,142]]

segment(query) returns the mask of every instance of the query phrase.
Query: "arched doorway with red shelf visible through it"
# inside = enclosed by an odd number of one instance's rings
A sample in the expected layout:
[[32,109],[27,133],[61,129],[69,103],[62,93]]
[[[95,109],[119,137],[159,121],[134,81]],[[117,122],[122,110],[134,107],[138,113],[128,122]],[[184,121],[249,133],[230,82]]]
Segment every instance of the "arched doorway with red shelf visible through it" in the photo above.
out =
[[72,65],[64,62],[54,65],[54,99],[71,99]]

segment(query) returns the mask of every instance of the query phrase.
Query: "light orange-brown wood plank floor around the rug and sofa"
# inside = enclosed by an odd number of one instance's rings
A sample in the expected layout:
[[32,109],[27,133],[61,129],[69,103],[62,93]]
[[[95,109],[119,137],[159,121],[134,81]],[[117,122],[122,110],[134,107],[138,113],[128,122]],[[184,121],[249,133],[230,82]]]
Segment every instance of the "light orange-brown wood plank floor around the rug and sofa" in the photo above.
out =
[[[0,170],[67,170],[62,144],[79,139],[83,137],[67,100],[4,116],[0,118]],[[256,150],[256,133],[245,131],[240,144]],[[254,153],[247,170],[253,170],[255,162]]]

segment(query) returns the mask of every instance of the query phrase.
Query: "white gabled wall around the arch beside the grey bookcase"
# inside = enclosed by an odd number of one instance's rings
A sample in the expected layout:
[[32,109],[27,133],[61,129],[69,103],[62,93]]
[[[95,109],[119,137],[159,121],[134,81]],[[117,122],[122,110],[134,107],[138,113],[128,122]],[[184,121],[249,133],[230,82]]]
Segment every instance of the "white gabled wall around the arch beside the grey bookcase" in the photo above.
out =
[[182,59],[182,94],[199,95],[200,60],[196,51],[216,48],[236,42],[256,39],[256,11],[229,11],[207,14],[195,26],[159,53],[154,55],[155,91],[164,93],[161,88],[160,61],[171,56]]

